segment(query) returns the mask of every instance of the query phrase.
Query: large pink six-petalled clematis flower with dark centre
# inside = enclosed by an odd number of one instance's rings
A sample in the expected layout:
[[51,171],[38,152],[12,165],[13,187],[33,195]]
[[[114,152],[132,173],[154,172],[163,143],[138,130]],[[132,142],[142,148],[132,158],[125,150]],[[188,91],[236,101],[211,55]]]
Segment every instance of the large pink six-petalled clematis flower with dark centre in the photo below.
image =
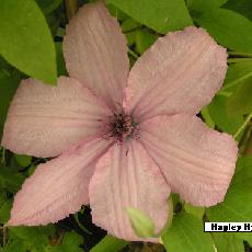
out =
[[211,206],[224,201],[237,145],[196,113],[220,89],[226,49],[202,28],[159,38],[129,71],[119,24],[103,3],[87,4],[64,41],[70,77],[56,88],[23,80],[2,146],[56,157],[39,164],[14,198],[10,226],[56,222],[90,204],[93,222],[141,240],[126,207],[167,222],[168,197]]

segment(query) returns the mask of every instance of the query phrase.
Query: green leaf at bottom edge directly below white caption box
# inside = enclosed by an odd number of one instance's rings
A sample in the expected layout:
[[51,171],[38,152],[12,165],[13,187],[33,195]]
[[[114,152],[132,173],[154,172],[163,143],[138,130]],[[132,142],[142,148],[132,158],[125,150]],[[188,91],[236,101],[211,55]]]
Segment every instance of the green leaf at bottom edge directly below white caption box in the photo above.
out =
[[213,232],[211,234],[218,252],[244,252],[243,240],[233,233]]

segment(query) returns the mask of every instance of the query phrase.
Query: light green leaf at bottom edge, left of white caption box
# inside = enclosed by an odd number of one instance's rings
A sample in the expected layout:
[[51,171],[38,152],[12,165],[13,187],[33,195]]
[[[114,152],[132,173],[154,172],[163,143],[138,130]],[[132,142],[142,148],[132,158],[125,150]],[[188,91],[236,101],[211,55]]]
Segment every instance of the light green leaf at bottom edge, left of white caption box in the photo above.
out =
[[210,234],[204,232],[203,222],[190,214],[179,214],[171,228],[162,236],[167,251],[214,252]]

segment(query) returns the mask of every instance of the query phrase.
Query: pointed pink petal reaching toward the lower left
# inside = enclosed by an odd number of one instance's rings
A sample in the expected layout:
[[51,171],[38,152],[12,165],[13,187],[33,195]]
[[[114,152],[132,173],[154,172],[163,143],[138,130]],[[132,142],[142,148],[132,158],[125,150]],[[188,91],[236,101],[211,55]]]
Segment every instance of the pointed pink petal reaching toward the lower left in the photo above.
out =
[[57,222],[89,202],[88,186],[98,159],[111,142],[94,139],[39,164],[14,198],[8,225]]

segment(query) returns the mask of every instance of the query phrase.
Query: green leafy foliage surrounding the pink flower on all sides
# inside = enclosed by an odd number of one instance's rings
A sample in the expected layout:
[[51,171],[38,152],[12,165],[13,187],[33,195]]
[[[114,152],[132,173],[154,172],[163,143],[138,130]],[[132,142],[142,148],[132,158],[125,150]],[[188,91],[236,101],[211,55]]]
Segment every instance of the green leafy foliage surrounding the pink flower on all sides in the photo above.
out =
[[[61,50],[66,2],[77,1],[0,0],[0,138],[21,79],[33,77],[55,85],[57,76],[67,75]],[[79,0],[78,5],[87,2]],[[127,37],[131,65],[159,36],[193,24],[228,48],[224,87],[198,115],[239,142],[237,170],[225,202],[205,209],[173,195],[173,222],[159,247],[106,236],[92,224],[88,207],[56,225],[7,228],[13,195],[45,160],[0,147],[0,252],[250,251],[251,233],[204,233],[203,221],[252,221],[252,1],[107,0],[106,4]]]

